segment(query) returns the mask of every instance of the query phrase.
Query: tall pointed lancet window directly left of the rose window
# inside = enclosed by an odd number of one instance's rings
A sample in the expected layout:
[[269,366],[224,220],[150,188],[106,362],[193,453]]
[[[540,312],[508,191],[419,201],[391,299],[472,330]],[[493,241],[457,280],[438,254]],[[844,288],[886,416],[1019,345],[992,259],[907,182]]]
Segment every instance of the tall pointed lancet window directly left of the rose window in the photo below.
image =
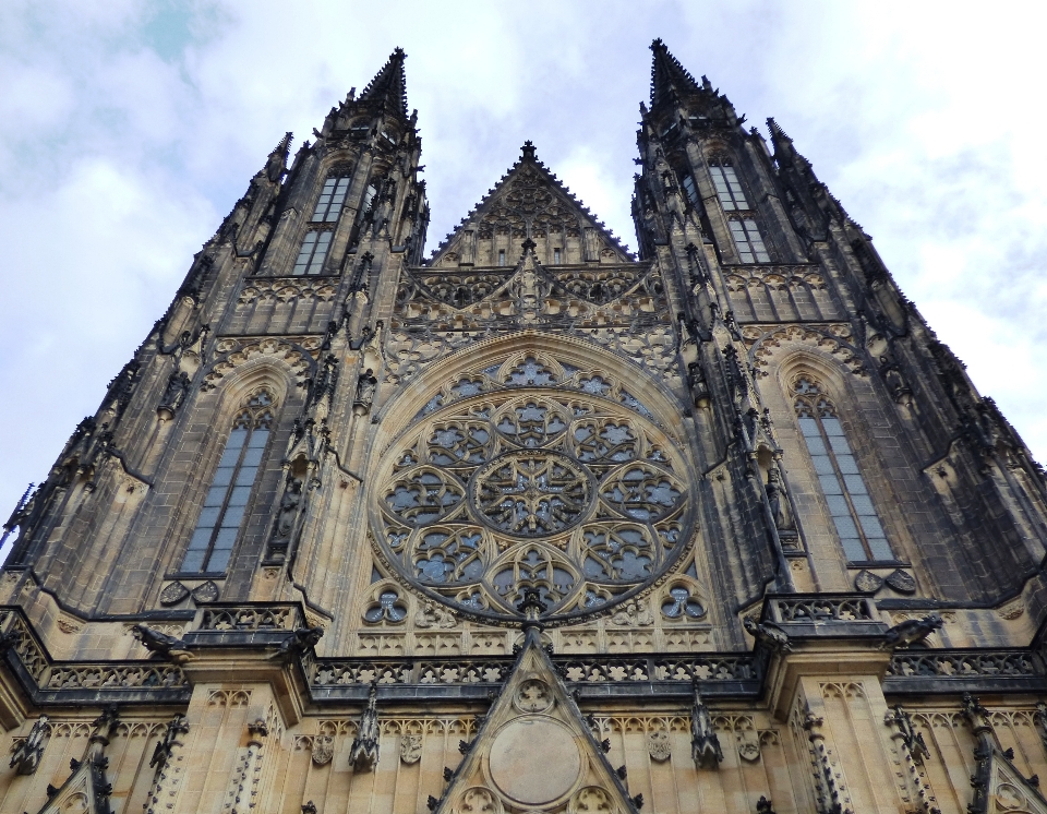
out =
[[273,427],[273,396],[262,390],[251,396],[232,422],[229,440],[210,481],[204,508],[182,561],[182,571],[219,574],[229,565],[243,513],[262,465]]

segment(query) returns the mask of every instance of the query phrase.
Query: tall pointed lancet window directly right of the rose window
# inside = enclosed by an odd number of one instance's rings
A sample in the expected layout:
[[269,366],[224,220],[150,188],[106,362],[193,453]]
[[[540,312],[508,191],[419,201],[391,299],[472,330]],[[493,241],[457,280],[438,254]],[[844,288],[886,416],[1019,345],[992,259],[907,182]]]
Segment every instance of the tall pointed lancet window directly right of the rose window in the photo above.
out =
[[821,387],[802,376],[793,385],[793,406],[807,442],[829,514],[851,562],[894,559],[843,427]]

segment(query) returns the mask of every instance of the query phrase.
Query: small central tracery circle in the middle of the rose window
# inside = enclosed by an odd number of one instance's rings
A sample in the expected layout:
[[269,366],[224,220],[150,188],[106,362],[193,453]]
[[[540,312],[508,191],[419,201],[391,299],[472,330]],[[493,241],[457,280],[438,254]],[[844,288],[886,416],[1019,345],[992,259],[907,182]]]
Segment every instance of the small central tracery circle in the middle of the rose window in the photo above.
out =
[[518,537],[544,537],[574,526],[589,507],[589,476],[566,455],[521,450],[481,468],[473,500],[492,528]]

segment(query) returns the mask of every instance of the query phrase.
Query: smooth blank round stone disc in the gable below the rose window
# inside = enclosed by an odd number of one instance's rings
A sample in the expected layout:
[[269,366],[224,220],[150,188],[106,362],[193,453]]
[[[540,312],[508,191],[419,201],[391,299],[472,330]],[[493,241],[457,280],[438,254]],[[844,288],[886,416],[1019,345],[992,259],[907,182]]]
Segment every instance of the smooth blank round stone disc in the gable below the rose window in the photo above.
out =
[[491,779],[525,805],[544,805],[570,791],[581,754],[566,727],[549,718],[519,718],[491,746]]

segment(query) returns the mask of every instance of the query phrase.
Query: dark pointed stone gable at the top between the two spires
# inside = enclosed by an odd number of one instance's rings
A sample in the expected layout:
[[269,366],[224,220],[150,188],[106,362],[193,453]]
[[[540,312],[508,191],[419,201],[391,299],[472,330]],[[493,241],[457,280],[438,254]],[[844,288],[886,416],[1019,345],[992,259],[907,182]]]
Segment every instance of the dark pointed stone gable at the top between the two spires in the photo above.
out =
[[539,260],[546,265],[626,263],[633,259],[603,223],[538,160],[534,146],[527,142],[520,159],[447,236],[428,265],[512,266],[527,240],[534,242]]

